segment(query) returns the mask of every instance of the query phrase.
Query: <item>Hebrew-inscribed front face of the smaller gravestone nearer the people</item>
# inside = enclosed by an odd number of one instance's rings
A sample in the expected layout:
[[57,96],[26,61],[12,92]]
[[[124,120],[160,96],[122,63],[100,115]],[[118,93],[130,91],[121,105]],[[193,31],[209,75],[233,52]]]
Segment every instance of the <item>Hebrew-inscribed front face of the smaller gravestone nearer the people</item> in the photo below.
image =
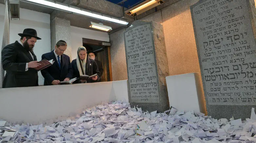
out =
[[128,84],[132,103],[159,103],[151,25],[125,33]]

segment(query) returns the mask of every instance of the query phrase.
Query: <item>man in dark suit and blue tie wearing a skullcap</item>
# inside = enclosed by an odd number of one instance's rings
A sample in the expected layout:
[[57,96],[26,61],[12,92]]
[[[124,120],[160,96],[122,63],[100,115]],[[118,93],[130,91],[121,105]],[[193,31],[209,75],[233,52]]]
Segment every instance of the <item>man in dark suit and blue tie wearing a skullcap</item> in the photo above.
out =
[[67,43],[60,40],[55,45],[55,50],[42,55],[42,60],[51,60],[53,65],[41,70],[45,78],[44,85],[58,85],[60,81],[69,81],[73,76],[73,70],[70,64],[70,58],[64,52],[67,49]]

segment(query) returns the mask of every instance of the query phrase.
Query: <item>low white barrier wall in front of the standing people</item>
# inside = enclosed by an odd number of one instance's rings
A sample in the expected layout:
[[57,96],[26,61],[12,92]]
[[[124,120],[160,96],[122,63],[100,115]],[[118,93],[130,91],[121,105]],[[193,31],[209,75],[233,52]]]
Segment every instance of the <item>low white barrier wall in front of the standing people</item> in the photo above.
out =
[[102,102],[127,100],[127,80],[0,89],[0,119],[40,124],[81,114]]

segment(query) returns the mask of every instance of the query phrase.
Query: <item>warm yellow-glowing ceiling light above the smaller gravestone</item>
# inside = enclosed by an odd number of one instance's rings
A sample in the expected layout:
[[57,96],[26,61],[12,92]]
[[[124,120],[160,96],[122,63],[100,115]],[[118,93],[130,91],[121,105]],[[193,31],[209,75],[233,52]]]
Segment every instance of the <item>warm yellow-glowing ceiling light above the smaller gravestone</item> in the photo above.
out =
[[125,13],[131,16],[137,16],[162,3],[164,3],[162,0],[146,0],[139,5],[126,10]]

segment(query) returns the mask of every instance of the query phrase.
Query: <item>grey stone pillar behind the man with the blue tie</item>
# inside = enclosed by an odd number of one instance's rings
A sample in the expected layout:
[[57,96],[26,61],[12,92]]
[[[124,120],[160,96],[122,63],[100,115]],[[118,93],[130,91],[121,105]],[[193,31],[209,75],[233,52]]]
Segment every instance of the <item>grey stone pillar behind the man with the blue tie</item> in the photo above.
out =
[[51,21],[51,50],[55,49],[54,47],[59,40],[67,42],[68,46],[64,54],[68,55],[70,59],[72,59],[70,21],[61,18],[54,18]]

